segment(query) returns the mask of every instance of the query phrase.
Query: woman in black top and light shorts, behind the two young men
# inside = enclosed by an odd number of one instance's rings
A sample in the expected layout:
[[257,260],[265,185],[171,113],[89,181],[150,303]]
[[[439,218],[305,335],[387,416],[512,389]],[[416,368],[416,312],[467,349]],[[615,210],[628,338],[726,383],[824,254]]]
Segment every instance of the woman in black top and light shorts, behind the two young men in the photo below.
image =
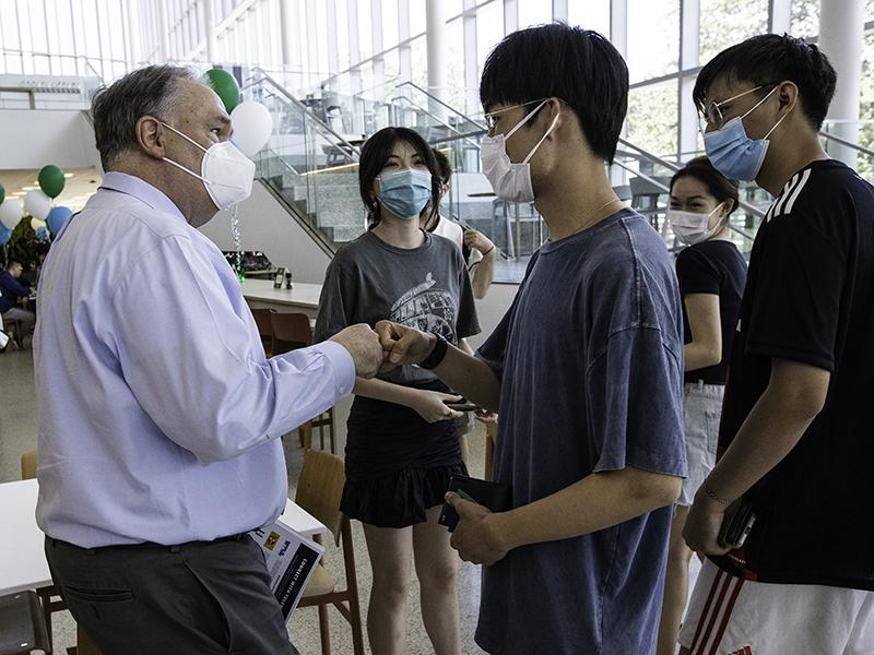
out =
[[658,655],[673,655],[688,595],[692,550],[683,526],[695,492],[713,468],[722,394],[746,283],[746,262],[729,238],[737,187],[707,157],[692,159],[671,180],[668,219],[685,243],[676,259],[683,296],[685,376],[684,428],[688,477],[671,525]]

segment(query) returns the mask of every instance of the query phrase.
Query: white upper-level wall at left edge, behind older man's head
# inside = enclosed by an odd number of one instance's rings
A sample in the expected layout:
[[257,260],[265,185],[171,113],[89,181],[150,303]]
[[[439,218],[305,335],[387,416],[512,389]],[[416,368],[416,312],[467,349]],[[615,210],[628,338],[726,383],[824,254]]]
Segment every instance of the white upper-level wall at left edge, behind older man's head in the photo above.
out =
[[0,109],[0,170],[97,166],[94,129],[82,111]]

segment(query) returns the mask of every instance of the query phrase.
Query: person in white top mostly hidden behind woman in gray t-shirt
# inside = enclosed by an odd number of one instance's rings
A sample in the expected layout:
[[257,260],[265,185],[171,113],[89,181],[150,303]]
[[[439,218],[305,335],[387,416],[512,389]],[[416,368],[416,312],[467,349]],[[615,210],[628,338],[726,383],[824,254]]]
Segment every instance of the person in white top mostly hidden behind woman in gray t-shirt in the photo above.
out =
[[[440,198],[449,193],[449,180],[452,177],[452,167],[449,158],[438,151],[433,150],[437,159],[437,169],[440,171]],[[473,297],[477,300],[485,298],[492,278],[495,276],[495,255],[497,250],[488,238],[475,229],[464,229],[461,225],[440,215],[439,211],[432,212],[430,205],[426,206],[418,217],[418,226],[425,231],[445,237],[461,248],[461,254],[468,264],[471,276]]]

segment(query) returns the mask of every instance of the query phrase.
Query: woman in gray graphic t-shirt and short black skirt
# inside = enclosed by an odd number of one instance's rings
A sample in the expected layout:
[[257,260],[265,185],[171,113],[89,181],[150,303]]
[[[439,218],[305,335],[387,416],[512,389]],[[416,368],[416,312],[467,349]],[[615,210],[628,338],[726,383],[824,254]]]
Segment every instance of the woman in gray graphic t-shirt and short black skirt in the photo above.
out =
[[[328,269],[316,340],[390,319],[466,347],[464,337],[477,334],[480,324],[464,261],[454,243],[418,226],[428,201],[438,206],[430,147],[412,130],[380,130],[362,150],[358,179],[370,230],[342,248]],[[364,524],[374,571],[367,631],[375,653],[409,652],[413,556],[434,650],[461,652],[458,558],[449,533],[437,525],[449,477],[466,474],[453,420],[461,415],[445,404],[459,397],[448,392],[414,366],[355,385],[341,509]]]

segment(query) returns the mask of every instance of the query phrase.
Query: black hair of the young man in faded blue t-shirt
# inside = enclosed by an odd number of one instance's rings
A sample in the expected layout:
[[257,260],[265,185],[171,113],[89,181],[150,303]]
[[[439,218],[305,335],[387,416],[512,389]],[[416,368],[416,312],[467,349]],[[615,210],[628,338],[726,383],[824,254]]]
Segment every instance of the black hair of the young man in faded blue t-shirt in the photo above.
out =
[[618,50],[597,32],[566,23],[507,35],[485,60],[483,107],[548,97],[570,106],[591,151],[612,164],[628,109],[628,67]]

